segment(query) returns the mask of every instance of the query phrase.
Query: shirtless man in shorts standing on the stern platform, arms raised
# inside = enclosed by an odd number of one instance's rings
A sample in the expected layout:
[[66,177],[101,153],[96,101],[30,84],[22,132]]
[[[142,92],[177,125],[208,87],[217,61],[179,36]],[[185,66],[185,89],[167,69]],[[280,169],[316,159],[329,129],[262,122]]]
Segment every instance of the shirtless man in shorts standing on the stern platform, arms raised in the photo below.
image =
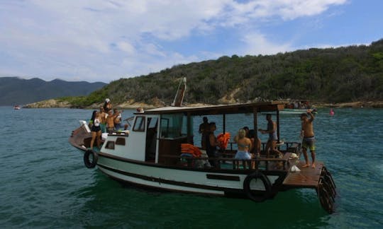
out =
[[[308,116],[310,115],[310,119]],[[307,148],[310,149],[311,152],[311,158],[313,160],[313,163],[311,165],[312,168],[315,168],[315,139],[313,134],[313,113],[311,113],[311,110],[307,110],[307,114],[303,113],[301,116],[301,122],[302,122],[302,129],[301,129],[301,137],[303,137],[302,141],[302,151],[304,153],[304,160],[306,161],[306,164],[303,165],[303,168],[309,167],[309,157],[307,155]]]

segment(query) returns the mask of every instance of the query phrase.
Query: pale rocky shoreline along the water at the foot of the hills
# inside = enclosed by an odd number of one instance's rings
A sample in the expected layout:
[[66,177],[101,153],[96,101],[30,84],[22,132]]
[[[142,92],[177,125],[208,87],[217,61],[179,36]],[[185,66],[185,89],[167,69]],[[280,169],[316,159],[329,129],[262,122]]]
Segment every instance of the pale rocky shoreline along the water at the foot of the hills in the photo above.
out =
[[[85,107],[85,109],[98,109],[103,103],[94,104],[89,107]],[[198,107],[206,104],[188,104],[190,107]],[[383,101],[367,101],[367,102],[342,102],[342,103],[323,103],[323,102],[313,102],[313,105],[316,107],[372,107],[372,108],[383,108]],[[136,109],[138,107],[143,107],[144,109],[150,109],[155,107],[160,107],[160,105],[149,105],[142,102],[124,102],[119,105],[114,105],[114,107],[118,107],[120,109]],[[61,100],[43,100],[40,102],[33,102],[28,105],[24,105],[23,108],[76,108],[73,107],[69,102],[61,101]]]

